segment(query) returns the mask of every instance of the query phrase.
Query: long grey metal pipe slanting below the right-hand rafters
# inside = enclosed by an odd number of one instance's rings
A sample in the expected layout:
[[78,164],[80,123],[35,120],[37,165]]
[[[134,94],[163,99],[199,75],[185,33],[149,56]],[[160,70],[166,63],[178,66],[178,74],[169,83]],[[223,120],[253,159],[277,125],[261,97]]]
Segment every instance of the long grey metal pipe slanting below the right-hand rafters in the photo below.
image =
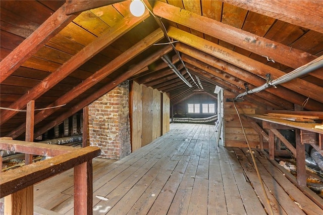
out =
[[318,57],[317,59],[305,64],[304,66],[301,66],[295,70],[293,70],[292,72],[290,73],[287,73],[273,81],[270,81],[268,83],[265,83],[259,87],[256,87],[256,88],[253,88],[251,90],[248,90],[244,93],[240,93],[239,95],[237,95],[235,98],[233,98],[232,100],[237,100],[238,98],[242,98],[243,96],[247,95],[247,94],[252,94],[252,93],[257,93],[257,92],[260,92],[264,89],[267,89],[271,86],[276,86],[276,85],[279,85],[279,84],[283,84],[283,83],[286,83],[288,81],[291,81],[295,78],[298,78],[302,75],[305,75],[307,73],[310,73],[314,70],[317,70],[319,68],[322,68],[323,67],[323,56],[320,56]]

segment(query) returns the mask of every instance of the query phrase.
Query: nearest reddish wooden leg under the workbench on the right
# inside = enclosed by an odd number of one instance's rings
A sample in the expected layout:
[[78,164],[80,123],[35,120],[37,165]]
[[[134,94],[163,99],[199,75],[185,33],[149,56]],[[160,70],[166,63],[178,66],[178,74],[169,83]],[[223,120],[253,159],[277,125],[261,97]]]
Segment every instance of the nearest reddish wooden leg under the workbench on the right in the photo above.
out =
[[306,186],[305,144],[301,142],[300,129],[295,129],[297,183]]

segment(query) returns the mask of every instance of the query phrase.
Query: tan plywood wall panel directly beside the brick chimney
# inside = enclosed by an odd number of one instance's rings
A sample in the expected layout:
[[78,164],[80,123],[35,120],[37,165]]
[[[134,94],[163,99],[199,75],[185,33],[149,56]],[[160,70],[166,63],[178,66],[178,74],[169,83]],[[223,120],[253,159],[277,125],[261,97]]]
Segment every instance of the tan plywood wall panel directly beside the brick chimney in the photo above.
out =
[[132,82],[129,92],[129,118],[131,130],[131,150],[141,147],[142,132],[142,85]]

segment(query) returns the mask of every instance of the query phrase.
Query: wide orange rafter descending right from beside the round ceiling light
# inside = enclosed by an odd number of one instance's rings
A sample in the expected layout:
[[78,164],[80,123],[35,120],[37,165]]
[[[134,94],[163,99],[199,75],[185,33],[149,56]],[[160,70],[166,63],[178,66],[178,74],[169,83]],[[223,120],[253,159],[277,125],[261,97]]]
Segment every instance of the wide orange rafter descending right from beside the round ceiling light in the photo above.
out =
[[269,59],[273,59],[294,69],[301,67],[316,58],[316,56],[313,56],[310,53],[298,49],[291,49],[287,45],[280,44],[273,40],[260,37],[169,4],[156,2],[153,13],[162,18],[180,23],[230,44],[257,53],[260,56],[267,56]]

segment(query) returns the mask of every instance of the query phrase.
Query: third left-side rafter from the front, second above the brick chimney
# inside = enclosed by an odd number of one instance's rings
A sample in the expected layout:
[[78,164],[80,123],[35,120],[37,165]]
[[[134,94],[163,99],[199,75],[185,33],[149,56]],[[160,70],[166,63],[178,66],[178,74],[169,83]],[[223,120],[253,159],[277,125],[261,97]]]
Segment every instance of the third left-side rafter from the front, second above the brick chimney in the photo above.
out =
[[[85,92],[87,89],[94,86],[98,81],[102,80],[103,78],[110,75],[118,68],[126,64],[128,61],[135,58],[137,55],[139,55],[139,53],[143,52],[144,50],[146,50],[148,47],[150,47],[151,45],[153,45],[155,42],[159,41],[163,37],[164,37],[163,31],[161,31],[160,29],[155,30],[146,38],[139,41],[136,45],[129,48],[126,52],[122,53],[122,55],[120,55],[118,58],[106,64],[96,73],[94,73],[93,75],[85,79],[82,83],[75,86],[73,89],[68,91],[66,94],[61,96],[53,103],[49,104],[47,107],[49,108],[51,106],[56,106],[58,104],[65,104],[70,102],[71,100],[73,100],[74,98],[76,98],[77,96]],[[59,110],[59,108],[46,109],[38,112],[37,115],[35,115],[35,125],[57,110]],[[10,137],[15,138],[20,134],[22,134],[24,132],[24,129],[25,129],[25,125],[23,124],[8,135]]]

